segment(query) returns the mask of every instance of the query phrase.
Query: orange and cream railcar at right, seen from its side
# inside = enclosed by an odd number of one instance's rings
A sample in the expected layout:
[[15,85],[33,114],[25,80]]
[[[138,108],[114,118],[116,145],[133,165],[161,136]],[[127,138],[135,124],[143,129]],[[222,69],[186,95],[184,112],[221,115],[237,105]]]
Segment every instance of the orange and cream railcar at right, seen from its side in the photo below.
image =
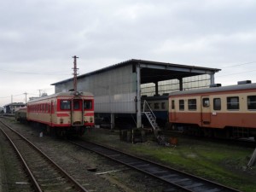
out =
[[256,84],[171,93],[169,121],[172,129],[196,127],[206,136],[256,137]]

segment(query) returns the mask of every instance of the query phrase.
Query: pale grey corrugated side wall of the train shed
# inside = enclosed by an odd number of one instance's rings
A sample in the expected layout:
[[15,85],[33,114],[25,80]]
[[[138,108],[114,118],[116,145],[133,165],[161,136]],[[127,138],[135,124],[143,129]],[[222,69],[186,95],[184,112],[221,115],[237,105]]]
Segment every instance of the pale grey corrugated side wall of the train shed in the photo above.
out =
[[[55,92],[73,88],[73,81],[55,85]],[[78,79],[78,90],[95,96],[96,113],[136,113],[137,75],[132,65]]]

